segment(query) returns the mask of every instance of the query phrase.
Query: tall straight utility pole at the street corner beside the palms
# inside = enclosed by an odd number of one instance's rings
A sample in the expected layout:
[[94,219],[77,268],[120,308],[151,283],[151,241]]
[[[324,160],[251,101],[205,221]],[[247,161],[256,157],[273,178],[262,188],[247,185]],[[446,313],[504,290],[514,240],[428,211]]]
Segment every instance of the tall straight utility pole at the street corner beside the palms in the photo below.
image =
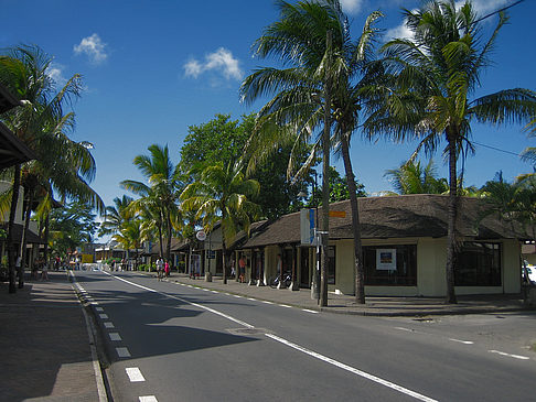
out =
[[328,246],[330,241],[330,134],[331,134],[331,44],[332,32],[325,36],[324,66],[324,132],[322,134],[322,267],[320,272],[320,306],[328,306]]

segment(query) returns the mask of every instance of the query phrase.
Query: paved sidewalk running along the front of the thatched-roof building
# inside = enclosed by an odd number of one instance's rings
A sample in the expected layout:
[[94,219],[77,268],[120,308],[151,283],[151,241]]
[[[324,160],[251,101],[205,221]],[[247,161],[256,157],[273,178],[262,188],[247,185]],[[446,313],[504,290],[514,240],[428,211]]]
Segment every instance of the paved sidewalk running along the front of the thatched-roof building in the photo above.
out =
[[[154,274],[154,273],[153,273]],[[291,305],[300,308],[315,309],[339,314],[354,314],[367,316],[427,316],[476,313],[506,313],[529,309],[523,304],[521,295],[478,295],[459,296],[458,304],[444,304],[438,297],[366,297],[366,304],[356,304],[353,296],[329,293],[328,307],[320,307],[317,300],[311,298],[309,289],[290,291],[289,289],[274,289],[238,283],[234,279],[224,284],[221,278],[213,278],[212,282],[203,279],[192,280],[185,274],[172,273],[169,282],[210,289],[261,301]],[[534,307],[532,307],[534,309]]]

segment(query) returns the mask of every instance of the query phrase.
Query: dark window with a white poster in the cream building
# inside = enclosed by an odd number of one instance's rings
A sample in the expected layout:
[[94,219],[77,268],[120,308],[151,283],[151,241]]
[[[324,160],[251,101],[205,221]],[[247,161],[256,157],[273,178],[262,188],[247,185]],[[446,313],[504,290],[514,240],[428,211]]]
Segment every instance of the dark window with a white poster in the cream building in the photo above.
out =
[[365,285],[417,285],[417,246],[363,247]]

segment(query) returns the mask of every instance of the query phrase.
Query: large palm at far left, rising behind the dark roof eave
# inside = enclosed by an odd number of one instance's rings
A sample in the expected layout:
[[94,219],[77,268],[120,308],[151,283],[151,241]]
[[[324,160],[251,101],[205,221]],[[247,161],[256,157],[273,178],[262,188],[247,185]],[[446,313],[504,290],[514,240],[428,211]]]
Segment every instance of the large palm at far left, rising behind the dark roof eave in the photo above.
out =
[[[100,206],[98,195],[88,187],[87,183],[79,176],[86,175],[89,180],[95,174],[95,162],[86,150],[82,150],[73,141],[63,134],[62,129],[72,123],[73,113],[64,115],[63,107],[72,98],[81,93],[81,77],[75,74],[64,87],[56,93],[55,83],[47,74],[52,57],[46,55],[37,46],[19,46],[8,50],[0,56],[0,80],[10,88],[13,94],[24,100],[25,106],[7,113],[4,122],[8,127],[37,154],[37,161],[29,164],[30,167],[39,166],[31,175],[26,175],[26,184],[47,182],[50,196],[52,198],[52,186],[63,192],[63,195],[76,194],[83,199],[94,202]],[[49,146],[51,143],[63,143],[64,146]],[[51,163],[52,162],[52,163]],[[60,167],[66,165],[66,170]],[[29,170],[26,170],[29,171]],[[45,172],[43,176],[36,172]],[[30,178],[33,176],[33,178]],[[37,176],[41,176],[37,180]],[[63,186],[71,180],[68,186]],[[74,181],[73,181],[74,180]],[[10,293],[15,292],[14,286],[14,239],[12,230],[14,225],[14,211],[19,197],[21,184],[21,165],[14,166],[12,199],[9,218],[9,264],[10,264]],[[30,189],[30,194],[33,192]],[[29,203],[31,206],[33,203]],[[45,210],[45,208],[42,208]],[[26,211],[26,220],[30,214]],[[10,235],[11,233],[11,235]],[[22,241],[24,246],[24,240]],[[46,251],[46,249],[45,249]],[[22,276],[22,275],[21,275]],[[20,283],[22,286],[23,283]]]

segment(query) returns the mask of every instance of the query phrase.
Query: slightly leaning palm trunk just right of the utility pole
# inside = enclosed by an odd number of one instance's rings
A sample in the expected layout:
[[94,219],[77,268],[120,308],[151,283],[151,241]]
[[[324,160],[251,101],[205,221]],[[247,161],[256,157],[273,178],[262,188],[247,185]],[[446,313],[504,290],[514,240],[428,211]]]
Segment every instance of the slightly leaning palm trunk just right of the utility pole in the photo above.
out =
[[354,264],[355,264],[355,302],[365,304],[365,275],[363,268],[363,248],[361,242],[360,208],[357,205],[357,188],[355,185],[352,161],[350,160],[349,135],[343,134],[341,139],[341,152],[346,172],[349,186],[350,207],[352,209],[352,231],[354,236]]

